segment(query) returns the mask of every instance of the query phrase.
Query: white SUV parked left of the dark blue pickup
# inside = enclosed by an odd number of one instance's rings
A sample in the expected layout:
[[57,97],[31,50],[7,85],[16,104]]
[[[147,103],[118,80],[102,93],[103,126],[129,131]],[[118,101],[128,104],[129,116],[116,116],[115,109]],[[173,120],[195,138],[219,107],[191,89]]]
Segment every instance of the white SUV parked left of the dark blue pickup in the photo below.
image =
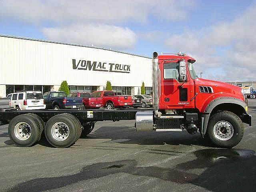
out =
[[23,91],[8,94],[11,107],[17,110],[45,109],[44,99],[40,91]]

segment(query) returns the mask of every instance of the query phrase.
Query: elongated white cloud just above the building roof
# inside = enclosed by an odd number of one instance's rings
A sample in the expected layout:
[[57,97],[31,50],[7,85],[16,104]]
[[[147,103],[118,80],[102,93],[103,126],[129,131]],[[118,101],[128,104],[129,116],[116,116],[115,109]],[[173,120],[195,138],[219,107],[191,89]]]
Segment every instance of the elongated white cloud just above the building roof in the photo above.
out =
[[52,40],[93,44],[106,48],[133,48],[136,43],[136,34],[132,30],[112,25],[72,24],[56,28],[43,28],[42,31]]

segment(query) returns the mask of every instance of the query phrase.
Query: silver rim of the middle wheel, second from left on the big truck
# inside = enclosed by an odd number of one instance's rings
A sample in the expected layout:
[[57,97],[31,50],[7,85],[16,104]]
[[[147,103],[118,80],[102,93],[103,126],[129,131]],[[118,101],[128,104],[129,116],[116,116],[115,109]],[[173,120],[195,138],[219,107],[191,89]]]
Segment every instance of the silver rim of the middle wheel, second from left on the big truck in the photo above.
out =
[[52,137],[57,141],[64,141],[68,138],[70,130],[67,124],[63,122],[56,122],[52,126]]

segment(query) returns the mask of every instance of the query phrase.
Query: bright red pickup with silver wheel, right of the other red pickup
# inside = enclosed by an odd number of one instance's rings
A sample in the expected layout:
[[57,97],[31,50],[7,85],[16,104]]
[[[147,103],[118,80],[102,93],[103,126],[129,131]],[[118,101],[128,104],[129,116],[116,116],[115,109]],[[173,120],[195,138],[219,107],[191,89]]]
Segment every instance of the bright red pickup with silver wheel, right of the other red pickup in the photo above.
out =
[[132,106],[132,96],[115,96],[113,91],[95,91],[93,98],[102,98],[103,106],[107,109],[126,108]]

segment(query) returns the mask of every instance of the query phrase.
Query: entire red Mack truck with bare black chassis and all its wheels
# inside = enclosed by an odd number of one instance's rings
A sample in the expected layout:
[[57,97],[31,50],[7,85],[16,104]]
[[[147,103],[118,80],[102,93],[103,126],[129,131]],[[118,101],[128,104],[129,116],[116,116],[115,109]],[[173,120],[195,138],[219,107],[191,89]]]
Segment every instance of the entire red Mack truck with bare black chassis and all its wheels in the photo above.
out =
[[195,62],[185,54],[153,53],[153,110],[2,110],[0,121],[10,122],[10,139],[21,147],[35,144],[43,130],[52,146],[63,148],[90,133],[97,121],[136,120],[137,131],[200,132],[213,146],[232,148],[243,137],[243,123],[252,125],[242,89],[198,78]]

